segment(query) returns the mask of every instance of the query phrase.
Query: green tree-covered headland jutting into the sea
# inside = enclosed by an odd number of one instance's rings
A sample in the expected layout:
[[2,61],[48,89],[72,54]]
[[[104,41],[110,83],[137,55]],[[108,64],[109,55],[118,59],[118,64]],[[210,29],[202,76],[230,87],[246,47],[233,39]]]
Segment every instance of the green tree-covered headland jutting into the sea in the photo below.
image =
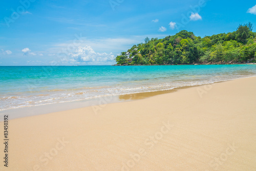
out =
[[256,62],[256,33],[252,24],[236,31],[212,36],[195,36],[182,30],[163,39],[145,38],[116,57],[117,65],[185,65]]

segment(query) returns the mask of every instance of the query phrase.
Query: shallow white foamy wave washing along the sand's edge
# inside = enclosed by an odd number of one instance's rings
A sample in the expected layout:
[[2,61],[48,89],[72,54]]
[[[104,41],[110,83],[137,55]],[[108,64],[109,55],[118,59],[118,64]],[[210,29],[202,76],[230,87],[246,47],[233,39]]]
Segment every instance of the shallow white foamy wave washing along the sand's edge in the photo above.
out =
[[[38,106],[38,105],[46,105],[46,104],[54,104],[54,103],[63,103],[63,102],[72,102],[72,101],[80,101],[93,99],[98,97],[106,97],[106,96],[118,96],[118,95],[126,95],[126,94],[136,94],[136,93],[146,93],[146,92],[156,92],[156,91],[166,91],[173,90],[175,88],[189,87],[189,86],[200,86],[204,84],[211,84],[219,81],[227,81],[237,78],[245,78],[251,77],[255,75],[243,75],[236,77],[212,77],[209,79],[197,79],[184,81],[179,80],[176,82],[162,82],[156,83],[152,82],[148,84],[148,86],[127,86],[126,87],[103,87],[101,89],[90,90],[87,92],[78,92],[78,91],[66,91],[66,93],[54,93],[54,94],[35,94],[30,96],[10,96],[10,97],[0,97],[2,103],[0,106],[0,111],[16,109],[16,108],[24,108],[27,106]],[[216,79],[217,78],[217,79]],[[81,89],[79,89],[81,90]],[[55,92],[55,91],[53,91]],[[58,91],[57,91],[58,92]]]

